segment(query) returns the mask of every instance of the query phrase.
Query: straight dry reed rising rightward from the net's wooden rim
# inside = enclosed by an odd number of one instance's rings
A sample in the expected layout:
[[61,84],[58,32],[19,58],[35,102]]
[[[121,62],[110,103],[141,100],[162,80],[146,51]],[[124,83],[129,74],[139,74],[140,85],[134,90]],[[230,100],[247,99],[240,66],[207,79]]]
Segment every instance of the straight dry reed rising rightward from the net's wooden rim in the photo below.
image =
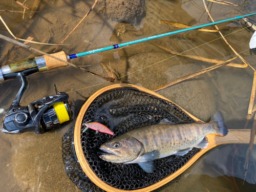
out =
[[167,83],[163,84],[162,86],[158,87],[157,89],[155,89],[155,90],[153,90],[153,91],[154,91],[154,92],[160,91],[160,90],[162,90],[162,89],[164,89],[164,88],[173,86],[174,84],[177,84],[177,83],[179,83],[179,82],[181,82],[181,81],[190,79],[190,78],[192,78],[192,77],[201,75],[201,74],[206,73],[206,72],[208,72],[208,71],[211,71],[211,70],[214,70],[214,69],[219,68],[219,67],[221,67],[221,66],[224,66],[224,65],[227,64],[227,62],[229,62],[229,61],[231,61],[231,60],[233,60],[233,59],[235,59],[235,58],[237,58],[237,56],[236,56],[236,57],[233,57],[233,58],[231,58],[231,59],[228,59],[228,60],[226,60],[226,61],[223,61],[223,62],[221,62],[221,63],[218,63],[217,65],[211,66],[211,67],[209,67],[209,68],[207,68],[207,69],[203,69],[203,70],[200,70],[200,71],[198,71],[198,72],[196,72],[196,73],[192,73],[192,74],[190,74],[190,75],[186,75],[186,76],[181,77],[181,78],[178,78],[178,79],[176,79],[176,80],[167,82]]

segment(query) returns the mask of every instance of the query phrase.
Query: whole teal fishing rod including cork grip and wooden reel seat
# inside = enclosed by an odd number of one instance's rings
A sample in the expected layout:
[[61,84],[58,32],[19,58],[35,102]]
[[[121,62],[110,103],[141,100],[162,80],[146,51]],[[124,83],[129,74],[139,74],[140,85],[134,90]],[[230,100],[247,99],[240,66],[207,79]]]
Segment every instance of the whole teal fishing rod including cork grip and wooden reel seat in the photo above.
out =
[[[200,25],[200,26],[195,26],[195,27],[190,27],[190,28],[181,29],[181,30],[177,30],[177,31],[172,31],[172,32],[168,32],[168,33],[164,33],[164,34],[160,34],[160,35],[146,37],[146,38],[142,38],[142,39],[138,39],[138,40],[124,42],[122,44],[116,44],[113,46],[104,47],[104,48],[100,48],[100,49],[94,49],[94,50],[76,53],[76,54],[72,54],[72,55],[67,55],[64,51],[54,53],[51,55],[53,55],[57,58],[60,58],[62,60],[65,60],[65,61],[69,61],[70,59],[74,59],[74,58],[78,58],[78,57],[82,57],[82,56],[86,56],[86,55],[90,55],[90,54],[94,54],[94,53],[99,53],[99,52],[103,52],[103,51],[108,51],[108,50],[112,50],[112,49],[122,48],[125,46],[137,44],[139,42],[144,42],[147,40],[152,40],[152,39],[157,39],[160,37],[174,35],[174,34],[182,33],[185,31],[191,31],[191,30],[202,28],[202,27],[207,27],[207,26],[211,26],[211,25],[224,23],[224,22],[229,22],[230,20],[241,19],[243,17],[248,17],[248,16],[255,15],[255,14],[256,13],[251,13],[251,14],[247,14],[247,15],[243,15],[243,16],[224,19],[224,20],[220,20],[220,21],[214,22],[214,23],[208,23],[208,24],[204,24],[204,25]],[[19,62],[12,63],[10,65],[1,66],[0,67],[0,82],[5,81],[10,78],[15,78],[15,75],[13,75],[13,76],[9,75],[11,73],[17,73],[17,72],[24,71],[27,69],[32,69],[32,68],[38,69],[38,70],[35,70],[35,72],[38,72],[38,71],[40,72],[40,71],[51,70],[51,69],[63,67],[63,66],[67,66],[67,63],[56,60],[47,55],[30,58],[25,61],[19,61]]]

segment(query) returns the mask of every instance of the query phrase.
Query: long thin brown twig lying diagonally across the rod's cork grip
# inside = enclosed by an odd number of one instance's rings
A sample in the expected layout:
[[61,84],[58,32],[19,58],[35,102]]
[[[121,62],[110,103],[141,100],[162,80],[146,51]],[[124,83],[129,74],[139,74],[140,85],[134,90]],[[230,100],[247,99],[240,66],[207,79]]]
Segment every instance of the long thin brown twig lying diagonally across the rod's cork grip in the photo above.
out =
[[2,38],[2,39],[4,39],[4,40],[7,40],[7,41],[9,41],[9,42],[12,42],[13,44],[18,45],[18,46],[21,46],[21,47],[23,47],[23,48],[26,48],[26,49],[35,51],[35,52],[40,53],[40,54],[42,54],[42,55],[47,55],[47,56],[49,56],[49,57],[51,57],[51,58],[54,58],[54,59],[57,59],[57,60],[62,61],[62,62],[64,62],[64,63],[67,63],[69,66],[72,66],[72,67],[74,67],[74,68],[80,69],[80,70],[82,70],[82,71],[84,71],[84,72],[88,72],[88,73],[90,73],[90,74],[92,74],[92,75],[94,75],[94,76],[96,76],[96,77],[100,77],[100,78],[102,78],[102,79],[104,79],[104,80],[106,80],[106,81],[110,81],[110,82],[113,81],[113,79],[112,79],[111,77],[104,77],[104,76],[102,76],[102,75],[98,75],[98,74],[93,73],[93,72],[91,72],[91,71],[89,71],[89,70],[86,70],[86,69],[83,69],[83,68],[81,68],[81,67],[78,67],[78,66],[76,66],[76,65],[74,65],[74,64],[72,64],[72,63],[70,63],[70,62],[67,62],[67,61],[65,61],[65,60],[62,60],[62,59],[60,59],[60,58],[58,58],[58,57],[52,56],[52,55],[50,55],[50,54],[48,54],[48,53],[45,53],[45,52],[40,51],[40,50],[38,50],[38,49],[32,48],[32,47],[30,47],[30,46],[28,46],[28,45],[24,45],[24,44],[22,44],[21,42],[18,42],[18,41],[16,41],[16,40],[13,40],[13,39],[11,39],[11,38],[9,38],[9,37],[6,37],[6,36],[4,36],[4,35],[2,35],[2,34],[0,34],[0,38]]

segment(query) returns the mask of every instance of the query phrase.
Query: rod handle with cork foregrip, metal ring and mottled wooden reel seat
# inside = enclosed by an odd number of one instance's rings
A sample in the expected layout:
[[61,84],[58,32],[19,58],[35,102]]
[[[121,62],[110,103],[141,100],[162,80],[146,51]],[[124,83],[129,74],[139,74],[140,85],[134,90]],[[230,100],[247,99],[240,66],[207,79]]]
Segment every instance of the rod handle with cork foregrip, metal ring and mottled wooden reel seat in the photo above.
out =
[[[51,54],[62,60],[69,61],[68,55],[64,51]],[[11,63],[9,65],[0,66],[0,82],[10,78],[10,73],[22,72],[27,69],[38,69],[39,72],[55,69],[58,67],[68,66],[67,63],[51,58],[47,55],[42,55],[34,58],[30,58],[24,61]],[[9,78],[7,78],[7,76]],[[13,76],[15,78],[15,76]]]

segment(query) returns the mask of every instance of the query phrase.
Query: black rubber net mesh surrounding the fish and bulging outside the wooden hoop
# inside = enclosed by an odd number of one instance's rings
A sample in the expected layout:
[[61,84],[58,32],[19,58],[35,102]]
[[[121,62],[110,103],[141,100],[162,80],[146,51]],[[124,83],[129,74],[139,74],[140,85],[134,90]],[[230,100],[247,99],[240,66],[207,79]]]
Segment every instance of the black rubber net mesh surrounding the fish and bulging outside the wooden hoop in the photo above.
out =
[[[172,155],[155,160],[156,169],[151,174],[144,172],[138,164],[111,163],[98,157],[99,147],[104,142],[132,129],[159,123],[164,118],[173,123],[195,122],[176,104],[136,89],[120,88],[99,95],[84,114],[83,123],[100,122],[110,127],[114,136],[81,126],[83,154],[95,175],[115,188],[133,190],[155,184],[181,168],[200,151],[198,148],[184,156]],[[62,158],[68,177],[82,191],[103,191],[83,173],[75,156],[73,133],[74,125],[62,138]],[[179,177],[157,191],[178,180]]]

